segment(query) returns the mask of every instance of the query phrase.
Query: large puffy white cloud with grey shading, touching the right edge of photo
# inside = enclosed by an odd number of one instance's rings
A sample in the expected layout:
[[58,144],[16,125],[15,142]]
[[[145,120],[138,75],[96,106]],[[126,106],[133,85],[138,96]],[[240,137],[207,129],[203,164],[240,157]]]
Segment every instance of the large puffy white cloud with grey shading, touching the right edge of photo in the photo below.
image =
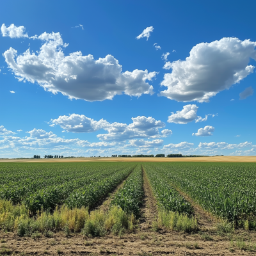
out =
[[255,45],[238,38],[197,44],[185,61],[166,63],[172,73],[164,74],[161,86],[167,90],[160,95],[183,102],[209,102],[216,93],[252,74],[255,67],[248,63],[250,58],[256,60]]

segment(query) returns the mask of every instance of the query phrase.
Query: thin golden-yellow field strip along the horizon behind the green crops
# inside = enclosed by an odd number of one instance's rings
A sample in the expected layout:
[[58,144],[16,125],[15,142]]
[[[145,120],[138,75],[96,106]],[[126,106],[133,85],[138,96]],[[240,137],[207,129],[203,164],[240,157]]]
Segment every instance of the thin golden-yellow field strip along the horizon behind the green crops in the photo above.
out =
[[112,161],[112,162],[247,162],[256,163],[256,156],[211,156],[211,157],[77,157],[77,158],[48,158],[48,159],[0,159],[0,162],[88,162],[88,161]]

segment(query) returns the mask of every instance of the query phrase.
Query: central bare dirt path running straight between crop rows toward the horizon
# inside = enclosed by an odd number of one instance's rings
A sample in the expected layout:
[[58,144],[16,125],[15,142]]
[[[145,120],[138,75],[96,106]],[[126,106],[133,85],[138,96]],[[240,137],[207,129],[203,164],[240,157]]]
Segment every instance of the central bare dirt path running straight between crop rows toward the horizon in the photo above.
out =
[[140,229],[145,231],[151,228],[152,221],[154,221],[157,216],[157,204],[156,199],[152,193],[152,189],[148,183],[145,170],[143,167],[141,168],[143,173],[144,198],[143,205],[141,207],[142,218],[140,219]]

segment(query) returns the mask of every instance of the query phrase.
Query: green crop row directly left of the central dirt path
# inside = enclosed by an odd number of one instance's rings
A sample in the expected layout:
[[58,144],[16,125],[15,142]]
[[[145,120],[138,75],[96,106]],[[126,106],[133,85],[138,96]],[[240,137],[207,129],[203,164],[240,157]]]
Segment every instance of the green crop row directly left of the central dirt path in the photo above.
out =
[[143,198],[143,176],[141,164],[138,164],[129,178],[125,180],[124,186],[119,189],[111,205],[122,208],[123,211],[135,216],[140,216],[140,206]]

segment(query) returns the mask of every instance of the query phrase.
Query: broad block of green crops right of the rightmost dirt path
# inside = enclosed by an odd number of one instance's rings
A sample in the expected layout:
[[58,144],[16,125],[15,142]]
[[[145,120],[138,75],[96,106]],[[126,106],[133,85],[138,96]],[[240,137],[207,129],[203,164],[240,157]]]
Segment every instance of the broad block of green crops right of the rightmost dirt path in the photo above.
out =
[[235,223],[255,220],[256,165],[249,163],[152,164],[205,210]]

